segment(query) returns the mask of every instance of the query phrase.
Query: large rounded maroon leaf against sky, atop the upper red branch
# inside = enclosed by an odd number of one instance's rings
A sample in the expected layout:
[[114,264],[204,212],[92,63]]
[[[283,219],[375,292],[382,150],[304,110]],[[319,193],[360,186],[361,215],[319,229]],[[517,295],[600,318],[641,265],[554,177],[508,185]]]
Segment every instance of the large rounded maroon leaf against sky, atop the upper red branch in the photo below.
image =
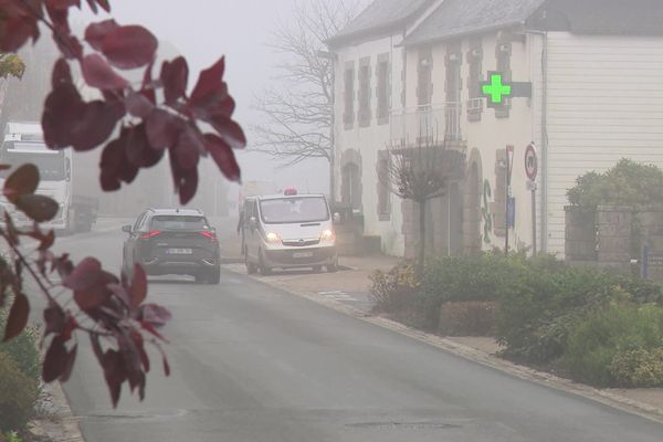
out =
[[152,62],[158,46],[157,39],[140,25],[119,27],[106,33],[102,52],[119,69],[136,69]]

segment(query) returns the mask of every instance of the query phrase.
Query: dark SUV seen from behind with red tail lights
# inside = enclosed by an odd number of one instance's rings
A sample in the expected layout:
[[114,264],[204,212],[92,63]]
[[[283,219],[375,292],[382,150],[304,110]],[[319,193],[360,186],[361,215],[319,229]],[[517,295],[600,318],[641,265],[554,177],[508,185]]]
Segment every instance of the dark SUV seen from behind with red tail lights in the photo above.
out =
[[123,269],[140,263],[148,275],[191,275],[219,284],[221,267],[217,232],[200,210],[148,209],[124,225]]

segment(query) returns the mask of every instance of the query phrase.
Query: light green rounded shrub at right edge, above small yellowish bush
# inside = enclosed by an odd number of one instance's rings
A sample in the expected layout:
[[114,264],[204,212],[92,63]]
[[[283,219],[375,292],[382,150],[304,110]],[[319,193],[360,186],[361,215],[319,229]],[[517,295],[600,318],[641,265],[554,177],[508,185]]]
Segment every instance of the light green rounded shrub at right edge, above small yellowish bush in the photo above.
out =
[[611,304],[578,320],[561,361],[575,379],[599,387],[615,386],[644,376],[639,365],[625,364],[624,355],[660,348],[663,307]]

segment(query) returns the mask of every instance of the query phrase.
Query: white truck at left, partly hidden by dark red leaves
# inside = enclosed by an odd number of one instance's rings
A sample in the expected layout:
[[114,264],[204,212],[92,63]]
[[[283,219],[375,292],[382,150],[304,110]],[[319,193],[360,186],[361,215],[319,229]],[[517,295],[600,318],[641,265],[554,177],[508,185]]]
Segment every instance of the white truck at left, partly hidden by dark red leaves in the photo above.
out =
[[[36,193],[48,196],[60,204],[55,218],[42,223],[42,227],[67,233],[90,232],[97,218],[98,200],[88,196],[88,183],[76,185],[77,173],[71,149],[49,149],[39,123],[10,122],[0,147],[0,164],[18,167],[27,162],[35,165],[40,171]],[[0,186],[9,173],[11,170],[0,173]],[[12,214],[18,227],[32,224],[12,204],[3,201],[2,206]]]

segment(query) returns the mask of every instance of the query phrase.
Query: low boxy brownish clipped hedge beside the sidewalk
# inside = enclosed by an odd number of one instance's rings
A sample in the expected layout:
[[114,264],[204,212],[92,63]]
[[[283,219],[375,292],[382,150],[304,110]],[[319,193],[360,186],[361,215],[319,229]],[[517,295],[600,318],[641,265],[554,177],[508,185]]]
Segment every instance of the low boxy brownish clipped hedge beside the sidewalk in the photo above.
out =
[[490,301],[449,302],[440,309],[442,336],[493,336],[497,304]]

